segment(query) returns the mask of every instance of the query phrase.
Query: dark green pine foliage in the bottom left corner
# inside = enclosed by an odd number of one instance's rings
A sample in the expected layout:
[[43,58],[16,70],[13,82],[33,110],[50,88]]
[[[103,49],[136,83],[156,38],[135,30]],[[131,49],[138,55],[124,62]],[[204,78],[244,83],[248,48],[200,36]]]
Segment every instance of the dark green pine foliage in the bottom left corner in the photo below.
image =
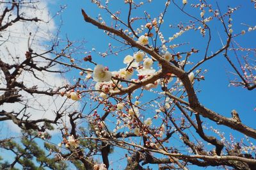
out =
[[[22,137],[20,141],[10,139],[0,143],[1,148],[11,151],[15,154],[14,160],[9,162],[1,162],[0,169],[15,169],[15,167],[22,166],[23,169],[67,169],[67,164],[63,161],[56,161],[54,158],[54,152],[58,152],[58,148],[53,144],[47,142],[44,143],[44,148],[41,148],[41,140],[37,137],[38,132],[34,130],[22,131]],[[47,136],[49,139],[50,136]]]

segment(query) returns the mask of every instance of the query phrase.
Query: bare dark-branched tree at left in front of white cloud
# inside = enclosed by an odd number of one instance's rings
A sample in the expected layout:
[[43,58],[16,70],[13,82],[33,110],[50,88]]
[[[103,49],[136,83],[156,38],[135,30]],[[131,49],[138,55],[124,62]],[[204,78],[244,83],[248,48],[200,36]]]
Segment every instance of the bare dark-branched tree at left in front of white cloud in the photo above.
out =
[[[56,162],[52,154],[58,150],[56,146],[38,144],[38,139],[51,138],[45,130],[53,130],[52,125],[60,123],[67,109],[58,96],[61,89],[74,87],[61,81],[61,74],[68,69],[56,62],[64,53],[68,55],[71,43],[67,41],[60,53],[55,53],[60,42],[50,34],[53,24],[44,2],[1,1],[0,7],[0,120],[5,123],[1,124],[0,145],[11,155],[6,159],[7,155],[1,154],[0,167],[17,169],[19,164],[24,169],[65,169],[66,163]],[[58,107],[54,114],[52,102]],[[22,130],[20,134],[11,135],[8,123]]]

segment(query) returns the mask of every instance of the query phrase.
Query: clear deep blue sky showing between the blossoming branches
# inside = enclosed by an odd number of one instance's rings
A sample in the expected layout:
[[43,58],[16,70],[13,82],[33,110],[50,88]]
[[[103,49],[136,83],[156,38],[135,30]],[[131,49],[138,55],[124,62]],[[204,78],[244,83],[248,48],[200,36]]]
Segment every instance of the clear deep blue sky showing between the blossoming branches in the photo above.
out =
[[[147,10],[152,18],[158,17],[159,13],[162,12],[164,9],[164,2],[165,1],[152,1],[151,4],[146,4],[143,9],[139,9],[138,11],[134,12],[132,17],[136,15],[143,15],[143,10]],[[198,3],[198,1],[189,1],[189,3],[193,2]],[[213,3],[214,7],[216,7],[215,1],[211,1],[211,3]],[[253,3],[251,3],[249,0],[228,0],[218,1],[218,3],[220,4],[220,9],[222,12],[225,12],[227,10],[227,6],[230,6],[232,8],[240,7],[240,9],[237,10],[237,12],[235,12],[232,17],[234,23],[232,28],[234,29],[235,34],[240,33],[243,29],[248,29],[248,27],[243,26],[241,23],[248,24],[250,26],[256,25],[255,18],[253,17],[255,16],[255,9],[253,8]],[[67,35],[70,40],[82,40],[82,38],[84,38],[84,40],[86,40],[86,44],[84,44],[84,49],[88,51],[92,50],[92,48],[95,48],[97,51],[104,52],[106,49],[108,49],[109,42],[116,44],[115,42],[113,42],[113,40],[110,40],[108,36],[106,36],[101,30],[97,29],[91,24],[85,23],[81,15],[81,8],[83,8],[86,13],[88,13],[88,15],[93,18],[96,18],[100,13],[104,20],[107,21],[107,24],[111,24],[113,20],[111,20],[110,16],[106,11],[99,10],[99,8],[97,8],[95,4],[90,3],[90,1],[75,0],[56,1],[54,4],[51,4],[51,6],[49,6],[51,8],[51,12],[56,12],[56,9],[58,9],[58,6],[60,4],[67,4],[67,9],[64,10],[64,12],[62,13],[63,26],[61,26],[61,36],[65,37]],[[164,18],[164,24],[161,28],[161,31],[163,31],[166,37],[171,36],[177,32],[177,29],[170,29],[169,24],[172,24],[174,26],[175,24],[179,24],[180,21],[188,22],[189,20],[191,20],[188,16],[177,10],[177,8],[175,8],[173,5],[171,6],[172,7],[169,8],[168,12],[166,13],[167,17]],[[110,1],[109,8],[113,10],[113,12],[120,10],[122,17],[126,19],[128,9],[127,5],[120,5],[120,1],[113,0]],[[198,9],[190,10],[191,8],[189,8],[189,6],[186,6],[184,9],[192,15],[200,17],[200,12],[198,12]],[[58,23],[58,20],[56,20],[56,23]],[[142,22],[140,24],[142,24]],[[211,52],[214,52],[222,47],[221,40],[225,42],[227,40],[227,36],[225,35],[220,22],[211,22],[209,26],[211,26],[212,31],[212,42],[208,54],[211,54]],[[244,36],[239,36],[235,40],[242,47],[253,48],[255,47],[255,35],[256,34],[254,31],[246,33]],[[177,38],[177,40],[174,40],[173,42],[189,42],[188,45],[180,47],[180,51],[189,50],[191,49],[191,47],[195,47],[195,49],[200,49],[200,52],[193,56],[193,59],[191,59],[192,61],[196,62],[202,59],[206,41],[207,38],[202,38],[199,32],[189,31],[188,33],[184,33],[184,35],[180,36],[180,38]],[[92,56],[93,59],[97,61],[97,63],[109,66],[109,70],[113,71],[124,67],[124,65],[122,64],[122,60],[127,54],[132,54],[132,52],[120,52],[118,56],[108,56],[107,58],[102,58],[96,53],[92,53]],[[230,54],[230,58],[234,59],[234,53],[229,52],[228,54]],[[239,54],[244,55],[245,53]],[[81,54],[81,56],[83,56],[83,54]],[[252,58],[253,57],[254,56],[252,56]],[[195,83],[196,89],[202,90],[200,93],[198,93],[198,98],[200,102],[202,102],[202,104],[204,104],[209,109],[212,109],[213,111],[216,111],[221,115],[227,117],[231,116],[230,112],[232,111],[232,109],[236,109],[236,111],[239,112],[239,116],[244,123],[252,128],[256,128],[254,120],[255,111],[253,111],[253,109],[256,107],[255,90],[248,91],[247,89],[241,87],[236,88],[233,86],[228,86],[228,81],[232,79],[230,78],[232,77],[232,75],[229,72],[233,72],[233,70],[228,65],[226,59],[222,55],[211,59],[211,61],[205,62],[204,65],[202,65],[201,67],[202,70],[207,69],[208,72],[205,74],[205,81]],[[68,76],[76,77],[77,75],[70,74]],[[152,98],[152,96],[148,94],[146,95],[146,97]],[[211,121],[206,119],[203,120],[207,122],[206,126],[216,127],[215,123],[212,123]],[[231,130],[230,128],[226,128],[223,126],[219,126],[218,128],[220,128],[222,132],[225,132],[227,137],[229,134],[233,134],[237,141],[239,141],[241,138],[244,138],[244,135],[234,132],[234,130]],[[211,134],[211,132],[209,133]],[[175,144],[179,145],[179,143]],[[119,149],[116,149],[116,153],[113,155],[114,157],[122,156],[118,155],[118,150]],[[115,158],[113,160],[115,160]],[[211,169],[211,167],[207,169]]]

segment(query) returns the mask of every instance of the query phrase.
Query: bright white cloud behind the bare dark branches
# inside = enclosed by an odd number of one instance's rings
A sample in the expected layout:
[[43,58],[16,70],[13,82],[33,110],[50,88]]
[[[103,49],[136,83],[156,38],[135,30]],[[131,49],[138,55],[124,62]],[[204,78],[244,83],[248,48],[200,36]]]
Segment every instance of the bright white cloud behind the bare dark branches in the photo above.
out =
[[[54,24],[54,20],[51,19],[51,15],[49,15],[47,1],[41,1],[40,3],[36,3],[34,5],[35,8],[23,8],[20,12],[26,14],[24,17],[38,17],[38,19],[42,19],[44,22],[16,22],[6,31],[1,32],[1,42],[7,40],[2,45],[0,45],[0,56],[2,61],[12,64],[21,63],[24,61],[24,59],[26,59],[25,53],[28,50],[29,33],[31,33],[31,49],[38,53],[44,52],[45,46],[43,44],[54,38],[56,25]],[[0,4],[0,12],[3,10],[3,7],[4,4]],[[47,57],[50,58],[50,56]],[[36,59],[36,61],[44,65],[42,59]],[[58,68],[55,67],[55,69]],[[34,75],[28,72],[22,72],[17,80],[23,81],[24,85],[27,87],[36,86],[38,90],[63,86],[68,83],[66,79],[60,77],[60,75],[57,75],[56,73],[38,71],[35,73],[36,76],[44,80],[44,82],[35,79]],[[0,72],[0,77],[3,77],[2,74],[3,73]],[[0,88],[1,87],[4,87],[3,78],[0,78]],[[24,91],[20,92],[20,95],[22,95],[22,102],[1,105],[0,110],[4,109],[5,111],[19,112],[24,107],[24,104],[27,104],[30,107],[26,110],[26,113],[31,115],[31,120],[37,120],[40,118],[54,120],[54,111],[58,111],[66,99],[65,97],[60,96],[32,96]],[[68,102],[65,104],[65,107],[69,107],[69,105],[73,102],[74,101],[68,100]],[[79,109],[79,104],[76,102],[75,104],[72,104],[69,109]],[[12,121],[8,121],[8,126],[16,132],[20,130],[17,125],[12,123]]]

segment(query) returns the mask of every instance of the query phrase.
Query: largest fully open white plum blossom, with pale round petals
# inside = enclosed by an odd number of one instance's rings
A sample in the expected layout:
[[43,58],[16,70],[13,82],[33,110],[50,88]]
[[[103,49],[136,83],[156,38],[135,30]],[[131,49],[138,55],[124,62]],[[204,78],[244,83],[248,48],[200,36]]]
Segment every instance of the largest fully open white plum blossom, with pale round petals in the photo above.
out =
[[112,77],[111,72],[106,70],[104,66],[97,65],[93,70],[93,80],[96,82],[110,81]]

